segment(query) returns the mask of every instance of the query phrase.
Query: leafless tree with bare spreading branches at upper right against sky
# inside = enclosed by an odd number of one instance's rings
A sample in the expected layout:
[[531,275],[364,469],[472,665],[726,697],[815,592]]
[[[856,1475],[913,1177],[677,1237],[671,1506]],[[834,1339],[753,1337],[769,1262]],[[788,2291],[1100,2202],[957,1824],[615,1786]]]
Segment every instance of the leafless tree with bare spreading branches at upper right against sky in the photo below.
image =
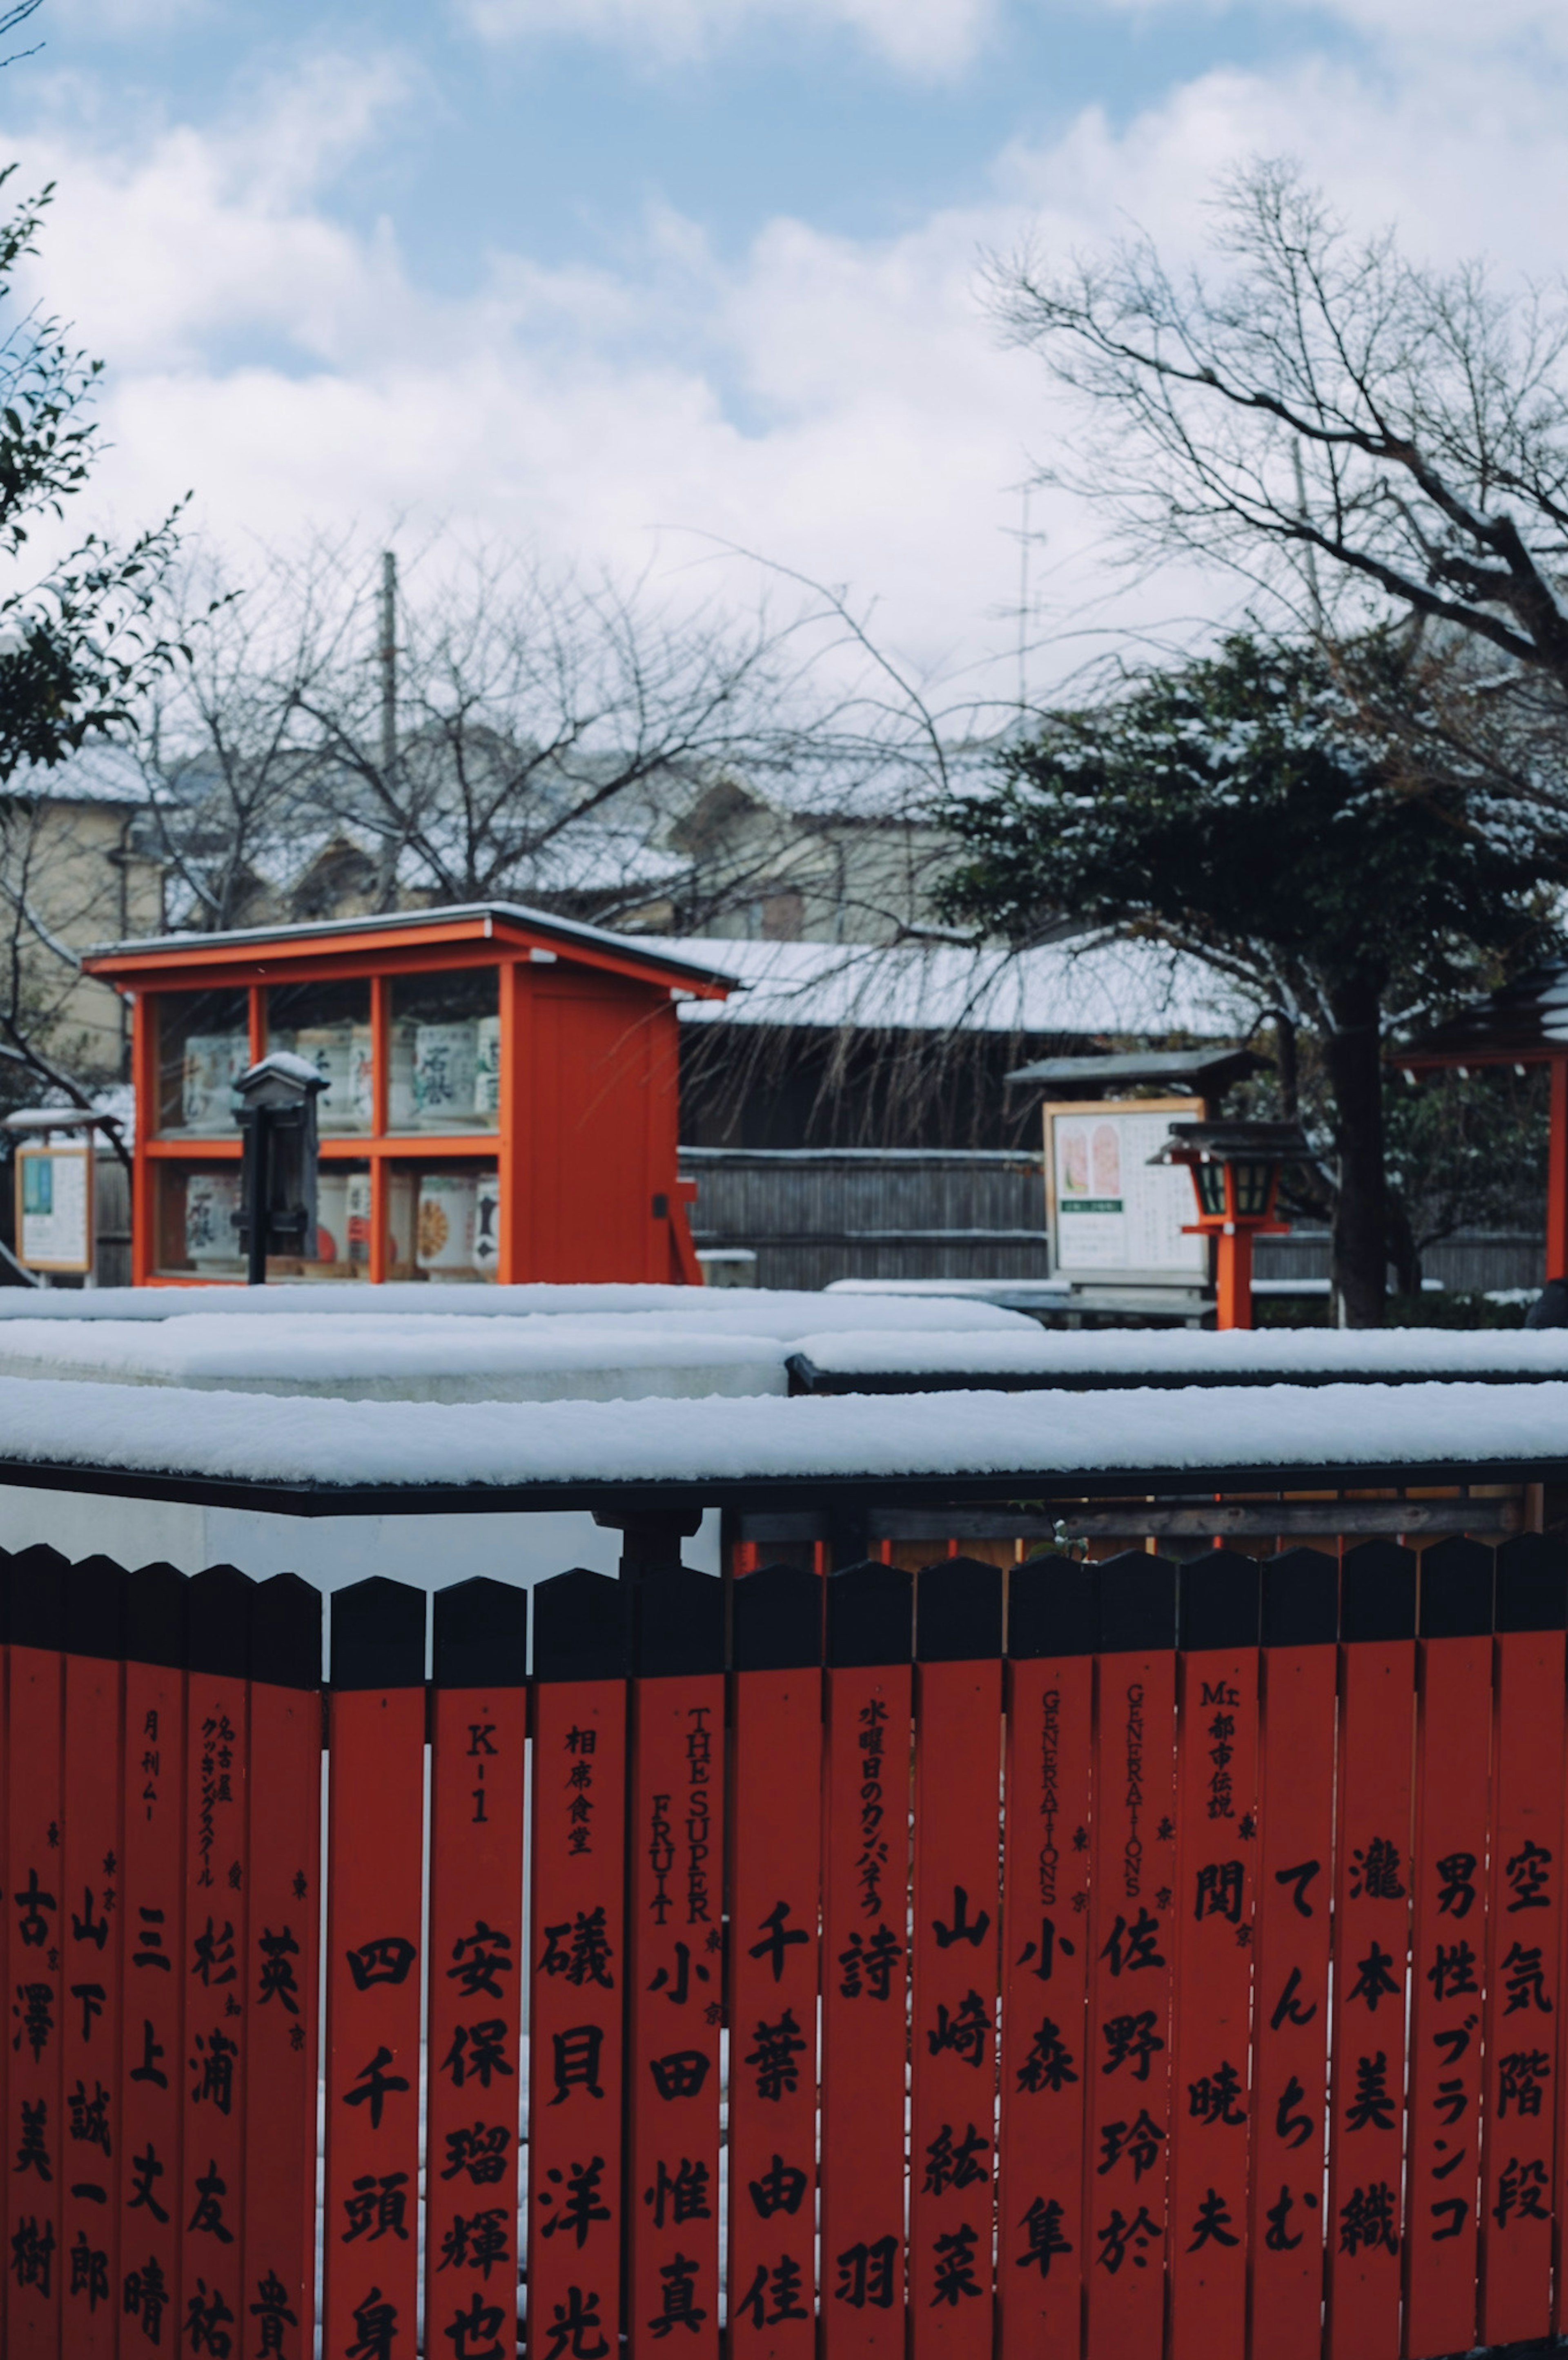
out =
[[[1221,182],[1217,271],[1146,234],[990,264],[1007,333],[1089,401],[1080,465],[1137,555],[1219,557],[1297,616],[1361,595],[1568,691],[1568,309],[1353,238],[1278,160]],[[1342,614],[1353,628],[1353,614]]]

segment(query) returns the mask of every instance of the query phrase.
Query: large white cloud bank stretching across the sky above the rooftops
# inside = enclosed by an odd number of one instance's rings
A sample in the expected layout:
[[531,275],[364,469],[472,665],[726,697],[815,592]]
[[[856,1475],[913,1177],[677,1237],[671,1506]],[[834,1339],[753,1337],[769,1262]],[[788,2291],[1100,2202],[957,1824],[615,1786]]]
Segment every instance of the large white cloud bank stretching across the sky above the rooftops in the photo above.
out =
[[[1087,111],[1012,146],[983,203],[896,238],[776,219],[724,262],[691,222],[651,215],[618,269],[498,253],[472,297],[441,300],[389,231],[356,236],[325,203],[403,97],[396,59],[335,61],[248,123],[174,125],[134,153],[24,142],[28,177],[61,186],[40,286],[113,363],[94,500],[123,526],[193,484],[229,540],[394,517],[417,538],[450,519],[632,569],[663,531],[663,559],[698,583],[710,543],[686,536],[717,536],[875,595],[894,647],[962,668],[1012,642],[1007,486],[1066,432],[1037,363],[981,314],[981,245],[1030,217],[1056,245],[1092,243],[1132,215],[1191,250],[1214,172],[1287,149],[1351,217],[1401,215],[1424,253],[1568,262],[1549,76],[1450,54],[1391,83],[1309,57],[1207,73],[1125,127]],[[1191,578],[1137,592],[1099,517],[1061,496],[1033,522],[1054,635],[1035,677],[1101,628],[1221,595]]]

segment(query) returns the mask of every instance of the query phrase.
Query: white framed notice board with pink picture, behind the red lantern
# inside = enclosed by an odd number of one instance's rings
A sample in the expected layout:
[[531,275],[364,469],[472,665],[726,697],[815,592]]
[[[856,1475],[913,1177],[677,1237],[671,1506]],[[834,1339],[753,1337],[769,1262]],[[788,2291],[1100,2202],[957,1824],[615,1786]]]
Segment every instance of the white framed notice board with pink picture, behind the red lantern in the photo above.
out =
[[1203,1286],[1210,1246],[1184,1237],[1193,1182],[1151,1166],[1174,1121],[1200,1123],[1200,1097],[1089,1097],[1045,1107],[1045,1218],[1052,1270],[1070,1279]]

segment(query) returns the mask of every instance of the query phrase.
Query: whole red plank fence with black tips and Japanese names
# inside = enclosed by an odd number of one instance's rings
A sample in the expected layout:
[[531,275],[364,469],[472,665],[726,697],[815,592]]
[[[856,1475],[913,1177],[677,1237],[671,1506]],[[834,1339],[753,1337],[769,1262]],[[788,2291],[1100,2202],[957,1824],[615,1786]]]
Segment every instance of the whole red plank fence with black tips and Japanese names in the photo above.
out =
[[0,1572],[7,2355],[1563,2327],[1551,1539]]

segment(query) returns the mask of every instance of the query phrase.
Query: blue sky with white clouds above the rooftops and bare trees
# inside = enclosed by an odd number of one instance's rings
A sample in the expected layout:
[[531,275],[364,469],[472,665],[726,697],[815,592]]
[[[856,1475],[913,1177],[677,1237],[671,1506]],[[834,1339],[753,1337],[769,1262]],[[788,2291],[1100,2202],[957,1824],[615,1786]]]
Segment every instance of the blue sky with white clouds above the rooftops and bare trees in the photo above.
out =
[[[108,361],[92,522],[436,522],[875,599],[927,675],[1016,640],[1063,418],[976,257],[1172,250],[1294,153],[1429,257],[1568,262],[1563,0],[45,0],[0,78],[59,201],[38,288]],[[1030,668],[1132,592],[1035,498]],[[696,578],[696,576],[693,576]],[[1089,635],[1089,642],[1085,640]],[[976,670],[979,668],[979,670]]]

